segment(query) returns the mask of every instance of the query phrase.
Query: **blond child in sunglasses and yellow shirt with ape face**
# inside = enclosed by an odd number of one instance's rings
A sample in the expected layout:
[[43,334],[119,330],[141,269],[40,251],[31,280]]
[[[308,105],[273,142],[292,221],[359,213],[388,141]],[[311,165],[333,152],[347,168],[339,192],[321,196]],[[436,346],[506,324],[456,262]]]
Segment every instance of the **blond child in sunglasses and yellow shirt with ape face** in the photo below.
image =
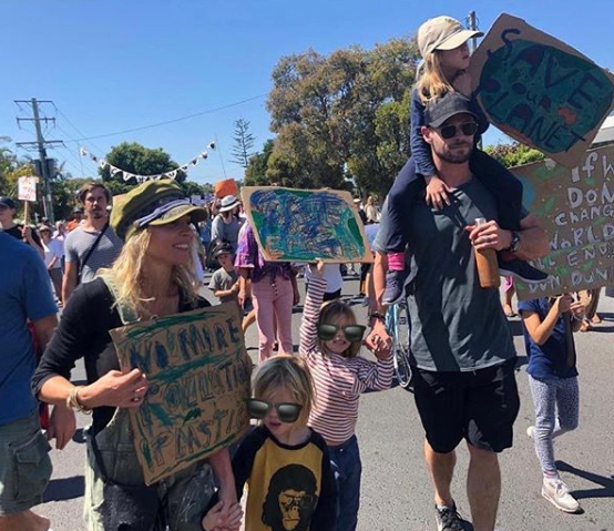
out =
[[246,531],[336,531],[337,492],[325,440],[307,419],[314,387],[307,364],[279,355],[256,372],[247,408],[260,423],[233,459],[241,500],[248,486]]

